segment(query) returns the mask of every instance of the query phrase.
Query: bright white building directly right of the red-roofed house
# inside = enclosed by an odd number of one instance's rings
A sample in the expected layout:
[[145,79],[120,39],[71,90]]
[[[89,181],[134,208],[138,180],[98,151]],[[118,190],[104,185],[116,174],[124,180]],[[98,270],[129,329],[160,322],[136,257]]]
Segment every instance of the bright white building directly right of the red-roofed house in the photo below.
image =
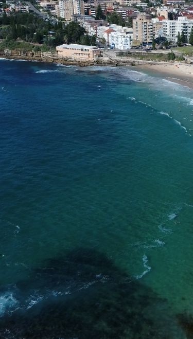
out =
[[131,36],[127,32],[111,32],[109,43],[115,48],[126,50],[131,48]]

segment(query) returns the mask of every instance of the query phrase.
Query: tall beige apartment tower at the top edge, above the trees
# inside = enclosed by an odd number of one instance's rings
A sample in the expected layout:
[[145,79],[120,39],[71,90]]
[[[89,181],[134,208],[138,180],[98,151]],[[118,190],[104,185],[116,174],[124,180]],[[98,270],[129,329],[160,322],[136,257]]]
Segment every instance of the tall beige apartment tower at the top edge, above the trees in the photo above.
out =
[[84,14],[83,0],[59,0],[59,16],[71,20],[74,14]]

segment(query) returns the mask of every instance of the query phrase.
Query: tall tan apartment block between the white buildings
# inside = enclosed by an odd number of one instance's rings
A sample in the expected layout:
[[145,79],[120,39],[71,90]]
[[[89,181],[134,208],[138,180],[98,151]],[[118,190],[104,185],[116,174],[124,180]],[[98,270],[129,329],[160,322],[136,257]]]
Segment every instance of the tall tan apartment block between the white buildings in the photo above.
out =
[[153,38],[152,21],[147,19],[146,13],[141,13],[133,20],[133,40],[142,45],[150,45]]

